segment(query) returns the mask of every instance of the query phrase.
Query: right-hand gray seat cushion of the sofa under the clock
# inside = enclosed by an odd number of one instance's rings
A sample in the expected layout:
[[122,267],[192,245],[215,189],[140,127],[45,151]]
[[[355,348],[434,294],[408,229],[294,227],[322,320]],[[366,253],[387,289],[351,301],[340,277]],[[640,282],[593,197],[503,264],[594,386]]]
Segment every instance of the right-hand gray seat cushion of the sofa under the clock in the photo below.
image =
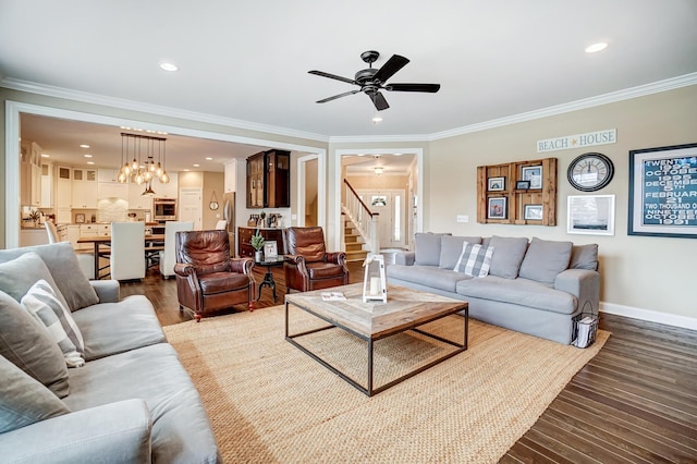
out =
[[576,297],[571,293],[523,278],[503,279],[489,274],[481,279],[461,280],[457,282],[456,289],[457,293],[463,296],[568,315],[576,310],[577,304]]

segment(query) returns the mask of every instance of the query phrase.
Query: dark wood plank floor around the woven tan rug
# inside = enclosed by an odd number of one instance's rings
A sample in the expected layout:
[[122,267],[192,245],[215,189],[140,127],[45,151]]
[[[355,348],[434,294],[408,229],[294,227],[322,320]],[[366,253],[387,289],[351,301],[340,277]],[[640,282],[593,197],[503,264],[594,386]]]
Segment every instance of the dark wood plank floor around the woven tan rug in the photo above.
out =
[[[362,281],[360,264],[350,269],[351,281]],[[264,271],[255,269],[257,282]],[[257,308],[283,302],[281,268],[274,279],[278,302],[265,288]],[[148,296],[162,325],[191,319],[179,310],[174,280],[157,269],[122,283],[121,294]],[[697,463],[697,332],[604,314],[600,328],[612,332],[604,347],[502,463]]]

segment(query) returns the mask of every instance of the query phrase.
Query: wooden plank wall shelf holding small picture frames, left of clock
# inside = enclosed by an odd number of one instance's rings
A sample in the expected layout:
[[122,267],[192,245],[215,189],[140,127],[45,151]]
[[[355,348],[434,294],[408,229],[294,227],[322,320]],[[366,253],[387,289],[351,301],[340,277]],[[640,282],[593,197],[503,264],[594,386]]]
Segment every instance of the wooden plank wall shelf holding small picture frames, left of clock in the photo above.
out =
[[477,222],[557,225],[557,158],[478,167]]

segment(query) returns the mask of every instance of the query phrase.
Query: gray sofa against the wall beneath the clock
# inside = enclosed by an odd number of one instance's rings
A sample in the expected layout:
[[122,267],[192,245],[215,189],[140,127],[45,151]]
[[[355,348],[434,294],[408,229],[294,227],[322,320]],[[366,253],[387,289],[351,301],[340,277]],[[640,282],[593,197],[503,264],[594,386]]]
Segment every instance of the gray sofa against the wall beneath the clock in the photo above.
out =
[[[398,253],[387,267],[389,282],[467,301],[475,319],[570,344],[574,318],[598,314],[597,244],[433,233],[415,239],[415,251]],[[465,242],[481,246],[480,261],[491,247],[485,277],[467,274],[461,259]]]

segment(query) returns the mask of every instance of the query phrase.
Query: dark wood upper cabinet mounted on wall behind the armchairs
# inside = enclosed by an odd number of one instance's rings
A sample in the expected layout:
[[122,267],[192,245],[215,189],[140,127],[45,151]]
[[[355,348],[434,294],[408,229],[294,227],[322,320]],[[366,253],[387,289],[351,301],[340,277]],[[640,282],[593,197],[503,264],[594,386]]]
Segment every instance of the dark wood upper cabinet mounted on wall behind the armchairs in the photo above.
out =
[[247,208],[290,208],[291,152],[261,151],[247,158]]

